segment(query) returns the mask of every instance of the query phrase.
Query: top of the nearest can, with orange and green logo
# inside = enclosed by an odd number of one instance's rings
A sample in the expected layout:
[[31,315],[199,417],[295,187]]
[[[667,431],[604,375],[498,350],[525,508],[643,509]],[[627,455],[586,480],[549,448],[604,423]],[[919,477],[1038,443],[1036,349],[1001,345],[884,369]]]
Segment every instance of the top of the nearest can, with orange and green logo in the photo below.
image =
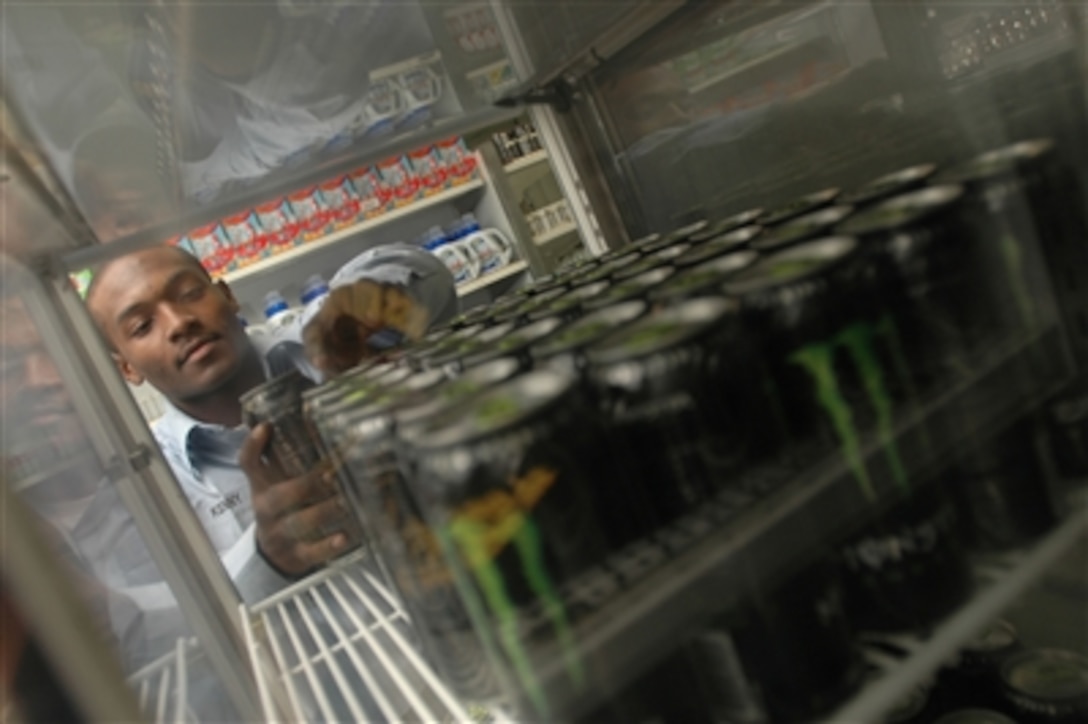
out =
[[573,388],[573,378],[552,370],[515,377],[484,392],[465,407],[448,408],[406,432],[420,450],[471,443],[520,425],[557,403]]

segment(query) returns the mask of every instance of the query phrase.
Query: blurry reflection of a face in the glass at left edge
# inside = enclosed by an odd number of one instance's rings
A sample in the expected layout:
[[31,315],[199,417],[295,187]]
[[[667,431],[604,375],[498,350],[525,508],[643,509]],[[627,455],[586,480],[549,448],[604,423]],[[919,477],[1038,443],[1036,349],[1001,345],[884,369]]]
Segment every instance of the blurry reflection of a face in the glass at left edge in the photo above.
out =
[[57,367],[22,300],[0,304],[3,444],[9,452],[74,453],[88,443]]

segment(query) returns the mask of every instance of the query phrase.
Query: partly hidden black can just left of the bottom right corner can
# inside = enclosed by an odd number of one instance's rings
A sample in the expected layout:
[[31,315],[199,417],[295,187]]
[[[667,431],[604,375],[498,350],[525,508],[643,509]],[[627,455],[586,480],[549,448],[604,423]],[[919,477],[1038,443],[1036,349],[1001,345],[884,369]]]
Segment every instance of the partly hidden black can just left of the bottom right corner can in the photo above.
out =
[[944,707],[1001,709],[1001,666],[1023,649],[1016,629],[1007,621],[998,619],[988,624],[941,671],[941,700]]

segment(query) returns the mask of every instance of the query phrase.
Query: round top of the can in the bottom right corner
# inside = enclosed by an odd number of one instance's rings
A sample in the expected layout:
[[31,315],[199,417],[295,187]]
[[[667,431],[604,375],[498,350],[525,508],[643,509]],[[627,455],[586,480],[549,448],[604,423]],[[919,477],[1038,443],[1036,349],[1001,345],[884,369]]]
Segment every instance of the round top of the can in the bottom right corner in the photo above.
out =
[[1001,680],[1012,691],[1040,701],[1088,701],[1088,659],[1058,649],[1024,651],[1001,666]]

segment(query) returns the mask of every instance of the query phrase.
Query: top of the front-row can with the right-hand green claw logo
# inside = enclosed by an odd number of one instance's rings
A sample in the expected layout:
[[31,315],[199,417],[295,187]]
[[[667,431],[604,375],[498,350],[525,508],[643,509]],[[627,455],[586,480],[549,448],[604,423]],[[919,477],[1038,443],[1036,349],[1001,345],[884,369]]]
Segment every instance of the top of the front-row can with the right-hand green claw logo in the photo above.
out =
[[856,249],[857,242],[850,236],[828,236],[804,242],[761,258],[733,275],[722,289],[730,296],[744,297],[795,284],[827,271]]

